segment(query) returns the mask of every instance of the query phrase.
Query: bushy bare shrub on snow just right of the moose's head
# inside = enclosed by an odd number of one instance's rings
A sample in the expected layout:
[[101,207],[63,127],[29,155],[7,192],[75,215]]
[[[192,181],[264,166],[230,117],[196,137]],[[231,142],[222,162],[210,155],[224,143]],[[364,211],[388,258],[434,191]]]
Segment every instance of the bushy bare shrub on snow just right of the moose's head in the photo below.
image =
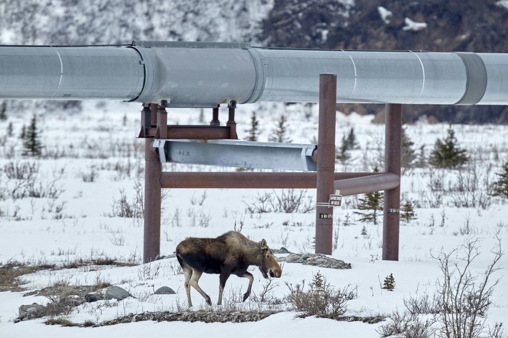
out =
[[315,315],[335,318],[344,314],[348,301],[358,297],[357,287],[347,285],[342,289],[335,289],[319,272],[313,275],[307,289],[305,281],[302,281],[302,284],[286,285],[290,291],[286,296],[287,302],[293,310],[302,312],[303,317]]

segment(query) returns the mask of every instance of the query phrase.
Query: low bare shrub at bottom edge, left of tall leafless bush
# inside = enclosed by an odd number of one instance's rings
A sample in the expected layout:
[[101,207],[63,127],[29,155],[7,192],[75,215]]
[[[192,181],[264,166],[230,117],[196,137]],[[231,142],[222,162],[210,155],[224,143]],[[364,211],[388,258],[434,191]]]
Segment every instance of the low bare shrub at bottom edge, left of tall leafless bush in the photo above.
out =
[[415,314],[394,311],[390,315],[390,321],[379,326],[376,332],[382,337],[429,338],[435,333],[433,323],[433,320],[422,320]]

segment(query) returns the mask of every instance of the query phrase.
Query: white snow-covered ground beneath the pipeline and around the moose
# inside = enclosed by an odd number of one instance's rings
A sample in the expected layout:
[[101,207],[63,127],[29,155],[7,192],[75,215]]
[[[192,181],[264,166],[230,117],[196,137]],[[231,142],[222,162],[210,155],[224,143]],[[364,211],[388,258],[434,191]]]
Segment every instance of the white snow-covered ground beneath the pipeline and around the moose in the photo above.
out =
[[[63,264],[77,259],[113,257],[120,261],[139,263],[142,254],[143,221],[135,218],[111,217],[114,202],[124,190],[128,199],[136,194],[136,181],[143,182],[143,140],[137,140],[139,131],[139,110],[137,104],[108,104],[97,106],[85,103],[84,112],[72,116],[65,112],[47,113],[40,120],[44,153],[52,156],[41,159],[23,157],[18,137],[28,116],[9,113],[14,125],[14,136],[7,138],[0,147],[0,172],[10,162],[35,162],[40,166],[37,182],[43,188],[54,182],[56,198],[25,197],[0,200],[0,262],[10,260],[29,263]],[[257,111],[262,133],[260,141],[267,141],[276,120],[284,113],[289,120],[290,137],[295,143],[312,143],[317,138],[317,107],[310,111],[301,105],[281,104],[245,105],[237,112],[240,138],[253,110]],[[198,110],[169,110],[170,123],[197,123]],[[211,112],[206,111],[206,120]],[[225,120],[226,110],[221,111]],[[122,120],[126,115],[126,124]],[[351,114],[337,115],[337,145],[342,136],[354,127],[359,149],[352,152],[346,164],[337,162],[336,171],[370,171],[375,165],[382,165],[384,153],[384,125],[372,124],[371,116]],[[8,121],[0,121],[0,139],[6,134]],[[119,127],[120,126],[120,127]],[[407,125],[406,130],[415,143],[417,153],[425,146],[428,155],[436,138],[446,135],[446,124],[426,124],[424,121]],[[496,125],[456,125],[456,136],[462,147],[468,149],[478,177],[478,191],[486,192],[484,179],[494,179],[495,172],[508,158],[508,127]],[[216,171],[234,168],[217,168],[198,165],[165,164],[166,171]],[[460,175],[471,173],[473,168]],[[96,173],[93,182],[84,182],[83,176]],[[278,297],[289,292],[285,282],[298,283],[312,280],[320,271],[335,287],[348,284],[358,286],[358,298],[348,302],[347,314],[374,316],[389,314],[403,308],[403,298],[435,289],[440,277],[437,262],[431,257],[440,251],[449,252],[458,248],[464,240],[480,239],[480,257],[472,265],[473,272],[483,272],[493,255],[490,250],[496,244],[496,233],[502,246],[508,239],[508,206],[506,201],[493,198],[486,209],[478,206],[485,196],[474,196],[467,192],[442,194],[432,191],[431,182],[442,183],[445,189],[453,189],[459,182],[457,171],[442,171],[430,168],[415,168],[402,177],[403,200],[411,200],[417,206],[418,218],[408,224],[401,223],[400,259],[398,262],[381,260],[382,225],[361,223],[353,207],[356,197],[347,197],[345,206],[335,210],[334,240],[336,249],[333,257],[351,262],[352,269],[334,270],[301,264],[283,265],[282,278],[276,280],[273,290]],[[464,178],[464,177],[462,177]],[[470,175],[467,176],[471,179]],[[12,188],[15,180],[8,181],[0,174],[0,190]],[[246,206],[255,201],[258,194],[277,193],[279,190],[261,189],[171,189],[163,201],[161,229],[161,253],[172,254],[175,246],[187,236],[214,237],[233,230],[243,222],[242,233],[253,240],[266,239],[271,248],[284,246],[292,252],[312,252],[314,235],[314,212],[310,213],[263,213],[250,214]],[[314,191],[306,195],[313,199]],[[455,205],[471,207],[456,207]],[[346,215],[352,224],[344,226]],[[201,225],[200,225],[201,224]],[[466,228],[466,225],[469,227]],[[367,234],[361,234],[362,227]],[[506,274],[507,258],[500,261],[502,269],[495,278]],[[171,310],[186,301],[183,289],[183,275],[176,274],[178,263],[175,258],[158,260],[136,266],[84,266],[53,271],[40,271],[26,275],[24,287],[36,290],[58,281],[73,285],[87,285],[96,280],[107,281],[129,290],[137,298],[122,301],[98,301],[85,303],[66,316],[73,322],[91,320],[102,322],[129,313],[143,311]],[[259,293],[265,283],[258,269],[253,272],[253,292]],[[380,288],[380,282],[393,273],[396,287],[393,292]],[[212,302],[218,296],[218,277],[203,275],[201,287]],[[176,295],[153,296],[153,290],[169,286]],[[226,285],[225,297],[244,292],[246,279],[231,277]],[[241,289],[242,291],[239,291]],[[339,336],[379,336],[375,329],[382,325],[361,322],[338,322],[331,319],[308,317],[295,318],[295,313],[283,312],[259,322],[213,323],[200,322],[137,322],[98,328],[68,328],[44,325],[43,319],[13,323],[18,307],[32,302],[46,303],[42,296],[23,296],[24,292],[0,292],[0,337],[32,336],[34,332],[43,336],[133,336],[135,334],[155,336],[168,332],[190,336],[266,336],[278,337],[309,336],[316,332]],[[193,289],[195,305],[203,302]],[[508,316],[508,279],[501,278],[495,287],[493,304],[489,309],[487,322],[506,321]],[[256,308],[247,300],[245,305]]]

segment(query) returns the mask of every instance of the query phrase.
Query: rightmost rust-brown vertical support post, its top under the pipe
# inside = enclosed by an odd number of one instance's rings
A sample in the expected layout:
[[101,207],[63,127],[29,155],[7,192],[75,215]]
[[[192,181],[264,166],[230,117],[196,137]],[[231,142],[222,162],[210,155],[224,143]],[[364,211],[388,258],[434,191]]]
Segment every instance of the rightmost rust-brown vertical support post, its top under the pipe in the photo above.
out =
[[[402,105],[387,104],[385,117],[385,172],[400,177]],[[383,259],[399,260],[400,185],[385,190],[383,208]]]

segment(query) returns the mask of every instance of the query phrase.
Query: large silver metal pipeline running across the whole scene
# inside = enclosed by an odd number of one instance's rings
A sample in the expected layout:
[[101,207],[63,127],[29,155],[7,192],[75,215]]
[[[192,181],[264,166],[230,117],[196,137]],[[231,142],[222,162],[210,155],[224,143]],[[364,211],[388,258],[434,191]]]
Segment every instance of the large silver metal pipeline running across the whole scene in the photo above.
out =
[[508,104],[508,54],[185,42],[0,46],[0,98],[6,99],[167,99],[169,107],[317,102],[321,73],[337,74],[337,102]]

